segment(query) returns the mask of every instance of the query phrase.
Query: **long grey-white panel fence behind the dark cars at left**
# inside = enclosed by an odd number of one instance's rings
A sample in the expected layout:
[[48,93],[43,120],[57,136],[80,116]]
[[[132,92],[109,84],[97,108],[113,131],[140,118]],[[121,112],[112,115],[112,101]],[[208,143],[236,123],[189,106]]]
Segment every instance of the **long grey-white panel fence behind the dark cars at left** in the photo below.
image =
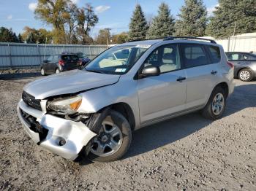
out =
[[49,55],[61,52],[83,52],[94,58],[107,49],[105,45],[74,45],[74,44],[22,44],[0,43],[0,69],[20,69],[39,66]]

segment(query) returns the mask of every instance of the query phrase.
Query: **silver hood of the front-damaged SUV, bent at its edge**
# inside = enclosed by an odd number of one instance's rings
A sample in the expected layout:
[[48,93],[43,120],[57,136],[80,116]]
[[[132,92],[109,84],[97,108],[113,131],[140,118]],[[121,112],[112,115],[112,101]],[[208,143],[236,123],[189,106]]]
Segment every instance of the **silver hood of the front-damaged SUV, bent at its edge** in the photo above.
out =
[[36,99],[43,99],[53,95],[77,93],[95,87],[111,85],[118,82],[119,77],[120,75],[72,70],[37,79],[26,85],[24,90]]

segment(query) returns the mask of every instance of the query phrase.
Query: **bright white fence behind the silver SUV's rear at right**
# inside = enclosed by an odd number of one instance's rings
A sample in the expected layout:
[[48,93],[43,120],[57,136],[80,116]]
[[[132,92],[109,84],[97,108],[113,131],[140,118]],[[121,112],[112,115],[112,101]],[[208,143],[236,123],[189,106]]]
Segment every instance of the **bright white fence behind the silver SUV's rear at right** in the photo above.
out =
[[[214,39],[209,36],[204,38]],[[215,39],[215,41],[222,44],[225,52],[256,52],[256,33],[231,36],[228,39]]]

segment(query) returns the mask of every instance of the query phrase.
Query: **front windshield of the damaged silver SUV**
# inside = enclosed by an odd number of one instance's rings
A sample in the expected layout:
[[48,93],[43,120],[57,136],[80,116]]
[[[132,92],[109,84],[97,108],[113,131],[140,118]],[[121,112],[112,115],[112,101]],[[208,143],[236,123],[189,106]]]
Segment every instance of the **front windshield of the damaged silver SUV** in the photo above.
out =
[[124,74],[132,68],[148,47],[148,45],[111,47],[91,61],[86,66],[86,70],[102,74]]

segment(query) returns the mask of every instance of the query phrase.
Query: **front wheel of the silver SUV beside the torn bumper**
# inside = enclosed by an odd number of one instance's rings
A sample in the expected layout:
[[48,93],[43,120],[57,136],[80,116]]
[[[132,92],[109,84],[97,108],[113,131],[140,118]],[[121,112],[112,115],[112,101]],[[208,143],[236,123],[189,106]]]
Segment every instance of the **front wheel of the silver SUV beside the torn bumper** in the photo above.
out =
[[[100,124],[102,125],[101,125],[101,128],[98,130],[99,133],[97,133],[97,136],[94,137],[90,141],[90,143],[87,145],[86,150],[89,151],[89,154],[87,155],[87,157],[89,158],[89,160],[97,161],[97,162],[110,162],[113,160],[120,159],[127,152],[132,141],[132,130],[130,128],[129,122],[122,114],[110,109],[108,111],[108,114],[106,114],[105,119],[102,120]],[[113,128],[108,127],[110,128],[108,129],[109,130],[108,132],[119,132],[119,134],[118,136],[114,136],[111,138],[109,137],[109,139],[106,141],[103,139],[105,138],[104,129],[106,129],[107,125],[109,124],[110,125],[112,124]],[[108,136],[110,136],[110,134],[108,134]],[[112,145],[118,145],[118,147],[113,147],[113,148],[116,148],[116,150],[112,149],[113,151],[112,152],[110,151],[110,147],[108,147],[108,145],[111,145],[110,142],[113,139],[115,139],[114,141],[116,144],[112,144]],[[104,153],[102,153],[102,155],[99,155],[97,152],[99,144],[104,145],[103,147],[105,147],[105,149],[103,149]],[[99,147],[99,148],[103,148],[103,147]],[[102,150],[102,149],[99,149],[99,150]]]

